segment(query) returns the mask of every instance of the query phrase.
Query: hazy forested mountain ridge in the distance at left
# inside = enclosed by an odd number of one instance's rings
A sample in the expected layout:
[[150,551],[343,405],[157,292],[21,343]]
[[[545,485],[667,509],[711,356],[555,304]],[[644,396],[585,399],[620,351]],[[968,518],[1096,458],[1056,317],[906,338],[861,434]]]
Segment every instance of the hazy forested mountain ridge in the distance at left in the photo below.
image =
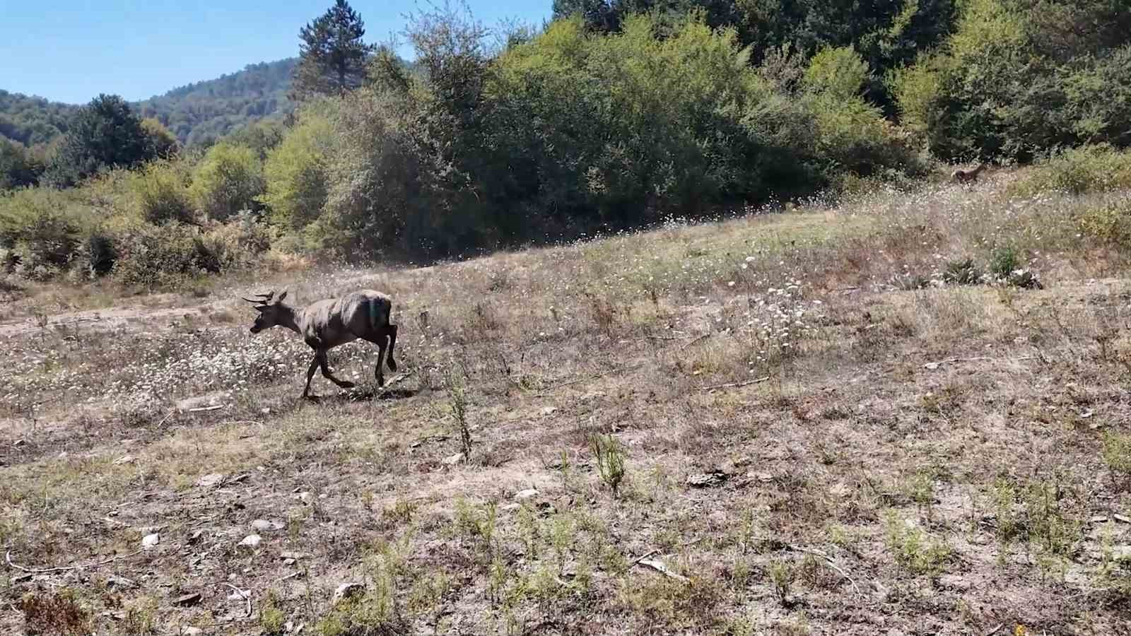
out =
[[[152,117],[187,145],[218,139],[235,128],[294,108],[287,98],[297,58],[248,65],[216,79],[197,81],[133,102],[139,117]],[[75,104],[0,91],[0,137],[26,146],[49,144],[67,132]]]

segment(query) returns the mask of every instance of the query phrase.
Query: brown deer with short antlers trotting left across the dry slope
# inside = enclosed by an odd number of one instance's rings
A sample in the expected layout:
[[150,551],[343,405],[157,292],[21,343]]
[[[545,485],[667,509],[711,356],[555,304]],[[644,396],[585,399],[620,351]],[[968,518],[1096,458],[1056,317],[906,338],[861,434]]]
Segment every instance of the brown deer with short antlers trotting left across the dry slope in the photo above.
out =
[[278,325],[301,335],[310,349],[314,350],[314,360],[307,369],[307,388],[302,390],[303,398],[310,396],[310,380],[314,377],[314,369],[319,367],[322,369],[322,376],[339,387],[354,387],[353,383],[339,380],[330,373],[326,352],[357,338],[369,341],[378,346],[377,369],[373,375],[377,377],[379,386],[385,385],[381,364],[385,362],[386,345],[389,349],[389,370],[394,372],[397,370],[397,361],[392,359],[392,350],[397,345],[397,326],[389,323],[392,313],[392,299],[388,295],[372,290],[362,290],[342,298],[320,300],[305,308],[284,303],[285,291],[275,298],[274,302],[271,299],[275,296],[275,292],[256,295],[254,300],[243,299],[252,303],[256,311],[259,312],[256,324],[251,326],[252,334]]

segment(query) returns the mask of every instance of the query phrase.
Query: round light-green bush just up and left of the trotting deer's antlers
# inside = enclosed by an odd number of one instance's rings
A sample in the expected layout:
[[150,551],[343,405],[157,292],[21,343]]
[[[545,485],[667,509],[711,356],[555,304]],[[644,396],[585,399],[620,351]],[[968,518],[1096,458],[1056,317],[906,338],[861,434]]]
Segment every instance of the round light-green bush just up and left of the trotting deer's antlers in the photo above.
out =
[[264,170],[256,152],[221,141],[205,154],[192,173],[189,192],[209,218],[224,221],[243,209],[260,209]]

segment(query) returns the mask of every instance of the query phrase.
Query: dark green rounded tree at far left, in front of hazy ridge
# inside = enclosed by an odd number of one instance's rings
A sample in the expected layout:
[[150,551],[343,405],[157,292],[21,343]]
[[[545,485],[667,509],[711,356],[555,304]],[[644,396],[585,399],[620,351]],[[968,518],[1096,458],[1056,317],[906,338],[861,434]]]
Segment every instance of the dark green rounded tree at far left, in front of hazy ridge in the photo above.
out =
[[104,167],[136,167],[154,156],[149,136],[129,104],[103,94],[71,121],[44,179],[55,187],[74,186]]

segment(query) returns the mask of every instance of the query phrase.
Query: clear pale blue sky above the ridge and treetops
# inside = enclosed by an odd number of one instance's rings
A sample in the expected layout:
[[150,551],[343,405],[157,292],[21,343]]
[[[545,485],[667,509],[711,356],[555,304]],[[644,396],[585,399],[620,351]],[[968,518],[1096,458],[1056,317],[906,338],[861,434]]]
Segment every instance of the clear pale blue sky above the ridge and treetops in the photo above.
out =
[[[68,103],[144,100],[245,65],[299,54],[299,28],[333,0],[0,0],[0,88]],[[442,3],[439,0],[437,3]],[[486,26],[539,25],[551,0],[467,0]],[[387,41],[414,0],[352,0],[365,40]],[[403,40],[403,38],[402,38]],[[406,51],[407,52],[407,51]]]

